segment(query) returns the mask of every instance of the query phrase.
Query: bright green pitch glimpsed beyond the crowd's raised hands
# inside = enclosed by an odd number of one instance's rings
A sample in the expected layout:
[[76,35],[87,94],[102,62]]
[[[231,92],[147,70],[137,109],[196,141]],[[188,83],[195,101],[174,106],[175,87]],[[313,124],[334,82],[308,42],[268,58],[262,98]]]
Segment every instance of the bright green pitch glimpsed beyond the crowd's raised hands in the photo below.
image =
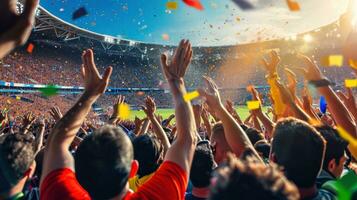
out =
[[[236,107],[236,110],[242,120],[246,119],[249,116],[249,110],[246,106],[238,106]],[[263,110],[266,111],[266,107],[264,107]],[[174,113],[174,109],[158,109],[156,113],[160,114],[165,119]],[[140,119],[146,117],[144,111],[132,110],[130,113],[130,119],[134,120],[135,116],[139,117]]]

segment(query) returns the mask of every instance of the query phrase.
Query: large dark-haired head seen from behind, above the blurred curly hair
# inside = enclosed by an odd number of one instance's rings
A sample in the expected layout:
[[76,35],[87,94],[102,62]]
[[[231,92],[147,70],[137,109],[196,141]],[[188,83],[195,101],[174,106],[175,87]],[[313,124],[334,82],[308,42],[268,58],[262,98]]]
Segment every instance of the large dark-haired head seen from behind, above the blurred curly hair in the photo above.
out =
[[273,131],[271,159],[299,188],[315,185],[325,153],[325,140],[316,129],[294,118],[279,121]]

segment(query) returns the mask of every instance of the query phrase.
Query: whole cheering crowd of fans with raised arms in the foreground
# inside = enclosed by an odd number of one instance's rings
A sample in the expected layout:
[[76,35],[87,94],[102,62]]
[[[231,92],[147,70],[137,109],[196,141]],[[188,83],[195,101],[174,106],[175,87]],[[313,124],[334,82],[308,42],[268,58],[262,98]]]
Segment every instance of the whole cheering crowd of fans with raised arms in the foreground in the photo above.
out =
[[[27,0],[17,15],[14,2],[0,2],[0,59],[26,42],[38,3]],[[2,110],[0,199],[329,200],[340,198],[341,185],[352,188],[347,194],[342,188],[344,198],[357,199],[357,149],[344,139],[346,134],[357,138],[350,88],[346,94],[334,91],[319,67],[299,55],[304,68],[296,74],[325,97],[324,112],[312,105],[307,86],[297,95],[294,72],[287,70],[288,83],[282,81],[280,57],[272,51],[262,60],[271,115],[259,106],[241,119],[231,101],[222,102],[210,77],[204,76],[205,87],[197,89],[201,103],[184,100],[192,55],[188,40],[172,56],[161,55],[175,109],[167,119],[157,117],[156,100],[147,96],[146,117],[123,120],[120,109],[128,99],[119,96],[111,117],[100,119],[103,124],[87,123],[92,105],[113,79],[112,67],[98,70],[91,49],[83,51],[75,76],[82,77],[85,91],[66,113],[58,106],[41,110],[47,116],[9,116]],[[248,91],[263,104],[254,86]],[[342,184],[345,177],[352,181]]]

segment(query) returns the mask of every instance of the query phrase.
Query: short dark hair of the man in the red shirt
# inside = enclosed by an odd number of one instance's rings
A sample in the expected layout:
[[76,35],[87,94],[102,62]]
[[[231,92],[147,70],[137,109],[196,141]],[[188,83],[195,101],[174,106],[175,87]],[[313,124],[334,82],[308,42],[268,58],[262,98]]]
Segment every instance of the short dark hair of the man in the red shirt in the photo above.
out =
[[78,182],[93,199],[119,195],[128,182],[133,147],[121,128],[103,126],[84,138],[75,154]]

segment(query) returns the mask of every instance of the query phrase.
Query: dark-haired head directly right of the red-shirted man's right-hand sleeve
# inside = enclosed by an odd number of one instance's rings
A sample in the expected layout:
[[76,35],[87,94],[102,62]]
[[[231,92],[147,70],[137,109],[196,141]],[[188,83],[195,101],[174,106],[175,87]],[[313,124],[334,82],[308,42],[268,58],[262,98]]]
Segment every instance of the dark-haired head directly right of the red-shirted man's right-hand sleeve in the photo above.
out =
[[209,141],[198,142],[190,172],[192,185],[198,188],[208,187],[214,167],[215,162]]

